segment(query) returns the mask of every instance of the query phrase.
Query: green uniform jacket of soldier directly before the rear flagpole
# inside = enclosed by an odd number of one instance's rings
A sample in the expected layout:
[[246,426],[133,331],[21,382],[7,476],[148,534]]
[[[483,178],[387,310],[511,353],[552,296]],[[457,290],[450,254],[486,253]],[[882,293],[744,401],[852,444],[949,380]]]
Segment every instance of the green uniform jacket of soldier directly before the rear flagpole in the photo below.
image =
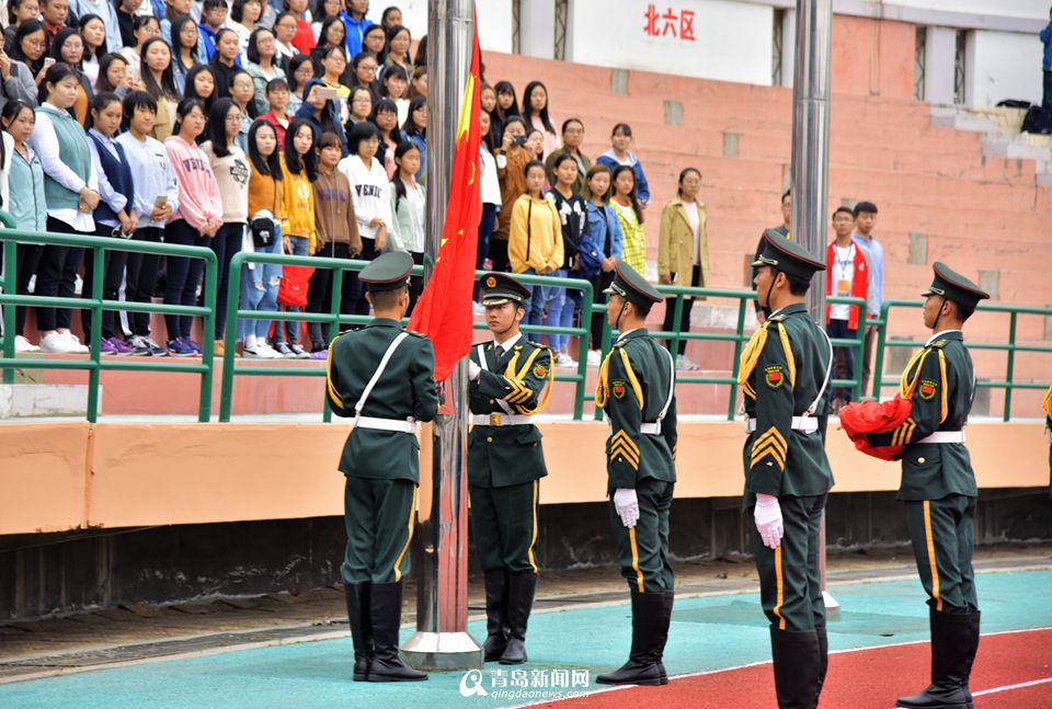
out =
[[828,365],[828,341],[803,304],[774,313],[750,340],[739,379],[745,413],[756,419],[742,451],[746,507],[757,493],[802,498],[833,487],[825,456],[828,387],[814,410],[817,431],[792,428],[792,418],[803,415],[817,397]]

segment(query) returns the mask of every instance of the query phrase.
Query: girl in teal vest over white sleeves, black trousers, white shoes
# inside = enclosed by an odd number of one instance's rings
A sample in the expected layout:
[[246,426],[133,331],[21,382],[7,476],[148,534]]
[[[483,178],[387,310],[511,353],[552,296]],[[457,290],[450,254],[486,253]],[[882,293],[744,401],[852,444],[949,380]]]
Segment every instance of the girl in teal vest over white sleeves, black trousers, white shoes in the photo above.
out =
[[[80,77],[69,65],[53,65],[41,85],[42,103],[30,137],[44,168],[47,230],[59,233],[95,230],[91,213],[99,206],[99,175],[91,164],[84,129],[69,114],[80,91]],[[71,298],[81,256],[79,248],[45,244],[35,295]],[[69,331],[69,308],[37,308],[36,321],[43,333],[43,352],[87,354],[88,347]]]

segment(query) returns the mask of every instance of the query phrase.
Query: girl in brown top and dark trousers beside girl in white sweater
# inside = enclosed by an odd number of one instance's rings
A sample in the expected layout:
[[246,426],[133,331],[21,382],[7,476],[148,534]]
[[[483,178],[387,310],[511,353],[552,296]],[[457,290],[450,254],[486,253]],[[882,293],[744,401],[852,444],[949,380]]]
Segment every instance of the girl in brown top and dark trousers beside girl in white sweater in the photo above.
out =
[[[347,175],[340,171],[343,141],[334,133],[322,134],[318,141],[318,180],[315,182],[315,224],[318,239],[315,254],[329,259],[354,259],[362,253],[362,237],[354,214],[354,195]],[[307,293],[308,312],[329,312],[332,302],[333,272],[316,268]],[[359,298],[358,276],[355,271],[343,272],[340,289],[340,312],[352,313]],[[320,322],[308,325],[310,356],[320,359],[328,355],[328,343],[336,335],[335,325],[324,328]]]

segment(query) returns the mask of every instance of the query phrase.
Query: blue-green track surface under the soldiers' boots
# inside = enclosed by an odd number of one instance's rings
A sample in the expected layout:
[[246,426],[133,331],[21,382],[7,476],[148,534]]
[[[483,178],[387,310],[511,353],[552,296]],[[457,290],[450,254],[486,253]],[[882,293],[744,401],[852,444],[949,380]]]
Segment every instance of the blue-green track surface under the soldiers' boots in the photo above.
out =
[[[980,574],[983,632],[1052,626],[1052,605],[1040,601],[1050,590],[1052,571]],[[832,650],[927,640],[927,607],[916,580],[838,585],[831,591],[842,605],[838,619],[830,624]],[[473,622],[469,629],[477,638],[484,636],[482,622]],[[403,639],[408,633],[403,629]],[[594,675],[620,665],[629,642],[627,603],[536,614],[529,624],[526,672],[539,670],[540,676],[551,682],[560,676],[552,674],[557,668],[586,670],[588,686],[578,689],[594,689]],[[769,659],[767,624],[757,594],[677,601],[665,652],[670,674]],[[401,685],[353,683],[351,665],[350,638],[304,642],[3,685],[0,707],[426,709],[526,701],[499,699],[492,694],[464,698],[460,673],[433,674],[428,682]],[[494,687],[498,666],[487,665],[483,687]],[[511,670],[503,670],[507,687],[514,690]]]

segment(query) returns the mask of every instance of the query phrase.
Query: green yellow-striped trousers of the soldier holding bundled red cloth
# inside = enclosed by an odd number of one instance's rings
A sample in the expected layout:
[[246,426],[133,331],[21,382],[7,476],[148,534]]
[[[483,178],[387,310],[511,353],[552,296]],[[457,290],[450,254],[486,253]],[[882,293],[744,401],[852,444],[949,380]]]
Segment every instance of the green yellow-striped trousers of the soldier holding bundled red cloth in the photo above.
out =
[[975,498],[907,501],[906,524],[928,605],[942,613],[979,608],[972,569]]

